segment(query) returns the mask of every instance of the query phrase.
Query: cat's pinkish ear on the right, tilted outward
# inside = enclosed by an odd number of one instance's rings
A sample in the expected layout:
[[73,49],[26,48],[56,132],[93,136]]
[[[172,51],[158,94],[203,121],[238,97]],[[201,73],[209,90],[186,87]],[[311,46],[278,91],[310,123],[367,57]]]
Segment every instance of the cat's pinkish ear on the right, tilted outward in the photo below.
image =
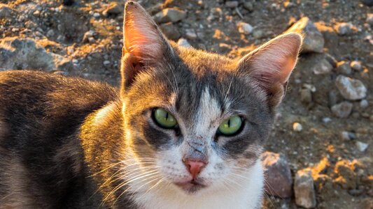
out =
[[300,34],[287,33],[270,40],[239,61],[239,70],[246,72],[266,91],[271,107],[279,105],[285,95],[301,45]]

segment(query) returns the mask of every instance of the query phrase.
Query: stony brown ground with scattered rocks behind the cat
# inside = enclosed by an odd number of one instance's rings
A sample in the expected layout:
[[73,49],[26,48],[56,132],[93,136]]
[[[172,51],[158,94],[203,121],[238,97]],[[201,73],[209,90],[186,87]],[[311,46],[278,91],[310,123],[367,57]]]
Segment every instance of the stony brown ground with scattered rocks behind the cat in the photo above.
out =
[[[125,1],[0,2],[0,70],[118,84]],[[372,1],[139,2],[171,40],[230,57],[304,33],[263,155],[264,208],[373,208]]]

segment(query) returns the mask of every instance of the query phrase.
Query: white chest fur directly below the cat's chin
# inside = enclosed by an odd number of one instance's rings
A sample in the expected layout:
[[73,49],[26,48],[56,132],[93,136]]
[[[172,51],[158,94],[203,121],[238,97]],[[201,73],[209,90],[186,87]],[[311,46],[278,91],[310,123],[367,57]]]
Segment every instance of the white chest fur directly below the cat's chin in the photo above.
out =
[[[161,183],[148,193],[136,195],[136,203],[146,209],[156,208],[260,208],[262,200],[263,173],[258,160],[251,169],[241,172],[240,178],[231,185],[212,185],[197,194],[186,194],[169,183]],[[231,179],[234,179],[231,177]]]

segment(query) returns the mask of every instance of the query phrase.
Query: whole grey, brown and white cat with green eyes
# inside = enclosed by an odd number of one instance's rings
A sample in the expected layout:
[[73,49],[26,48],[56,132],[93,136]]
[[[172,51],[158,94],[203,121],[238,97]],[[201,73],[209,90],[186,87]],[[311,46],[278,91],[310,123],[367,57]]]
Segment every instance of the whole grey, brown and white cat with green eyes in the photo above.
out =
[[0,73],[0,208],[260,208],[260,155],[302,45],[179,47],[125,6],[120,88]]

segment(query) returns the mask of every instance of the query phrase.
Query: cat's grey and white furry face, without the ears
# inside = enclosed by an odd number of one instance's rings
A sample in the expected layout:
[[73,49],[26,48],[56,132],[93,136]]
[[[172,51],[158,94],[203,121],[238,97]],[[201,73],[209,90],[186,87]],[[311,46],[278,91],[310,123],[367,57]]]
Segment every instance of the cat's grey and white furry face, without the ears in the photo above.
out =
[[[162,177],[195,192],[229,183],[258,160],[272,110],[236,61],[191,51],[174,49],[180,59],[136,78],[125,95],[125,130],[139,157],[155,158]],[[155,118],[159,108],[176,120],[171,128]],[[232,133],[223,127],[230,118],[240,121]],[[196,178],[188,159],[204,163]]]

